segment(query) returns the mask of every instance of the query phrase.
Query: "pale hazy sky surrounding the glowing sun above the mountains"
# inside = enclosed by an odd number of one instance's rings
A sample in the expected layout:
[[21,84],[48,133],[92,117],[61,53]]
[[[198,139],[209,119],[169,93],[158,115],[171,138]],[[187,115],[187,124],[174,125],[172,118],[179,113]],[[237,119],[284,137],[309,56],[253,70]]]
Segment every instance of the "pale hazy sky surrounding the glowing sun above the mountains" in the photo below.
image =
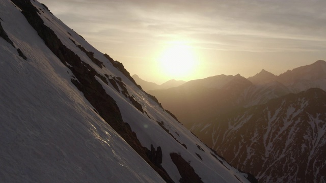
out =
[[[279,75],[326,59],[325,0],[39,2],[131,75],[156,83],[262,69]],[[160,69],[176,45],[196,63],[183,76]]]

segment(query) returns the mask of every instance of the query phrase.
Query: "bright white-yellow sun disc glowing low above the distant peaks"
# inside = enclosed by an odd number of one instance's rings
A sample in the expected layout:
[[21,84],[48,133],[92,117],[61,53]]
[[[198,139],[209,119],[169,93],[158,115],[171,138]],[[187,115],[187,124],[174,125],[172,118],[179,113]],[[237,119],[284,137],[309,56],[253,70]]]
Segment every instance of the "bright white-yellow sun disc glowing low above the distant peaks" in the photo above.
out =
[[195,71],[196,59],[191,47],[177,44],[166,49],[159,58],[161,71],[170,78],[186,79]]

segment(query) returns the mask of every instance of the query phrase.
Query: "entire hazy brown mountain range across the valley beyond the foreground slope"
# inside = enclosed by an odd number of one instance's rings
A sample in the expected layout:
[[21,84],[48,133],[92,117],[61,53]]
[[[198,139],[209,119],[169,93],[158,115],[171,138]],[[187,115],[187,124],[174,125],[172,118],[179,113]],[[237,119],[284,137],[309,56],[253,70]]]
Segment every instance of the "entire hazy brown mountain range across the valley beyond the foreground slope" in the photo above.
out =
[[325,90],[318,60],[279,76],[219,75],[149,93],[259,182],[326,182]]

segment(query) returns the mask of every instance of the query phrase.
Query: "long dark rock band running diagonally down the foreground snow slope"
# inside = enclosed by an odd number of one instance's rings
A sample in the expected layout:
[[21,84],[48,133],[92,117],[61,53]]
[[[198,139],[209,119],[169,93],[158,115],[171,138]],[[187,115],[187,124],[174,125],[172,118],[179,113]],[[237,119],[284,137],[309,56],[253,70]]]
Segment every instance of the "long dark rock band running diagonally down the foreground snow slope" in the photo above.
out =
[[[43,39],[46,46],[61,60],[61,62],[71,70],[76,79],[71,82],[84,94],[85,98],[95,108],[98,114],[108,123],[137,153],[167,182],[173,182],[167,172],[160,166],[156,166],[147,156],[149,151],[143,147],[132,132],[130,126],[124,123],[119,107],[114,99],[107,95],[95,76],[104,78],[92,67],[84,63],[78,55],[62,44],[57,35],[38,16],[38,10],[28,0],[12,0],[21,10],[29,23]],[[69,64],[69,65],[68,65]],[[105,79],[106,80],[106,79]],[[107,82],[107,81],[106,81]],[[160,149],[157,149],[159,157]],[[159,163],[159,158],[156,160]]]

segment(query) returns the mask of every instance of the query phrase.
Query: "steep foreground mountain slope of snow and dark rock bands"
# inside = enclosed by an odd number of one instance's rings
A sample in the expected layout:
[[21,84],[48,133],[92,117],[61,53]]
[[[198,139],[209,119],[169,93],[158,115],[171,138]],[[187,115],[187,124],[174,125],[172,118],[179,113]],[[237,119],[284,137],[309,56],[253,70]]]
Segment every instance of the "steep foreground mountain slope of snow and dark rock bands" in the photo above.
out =
[[1,182],[249,182],[37,1],[0,2]]

